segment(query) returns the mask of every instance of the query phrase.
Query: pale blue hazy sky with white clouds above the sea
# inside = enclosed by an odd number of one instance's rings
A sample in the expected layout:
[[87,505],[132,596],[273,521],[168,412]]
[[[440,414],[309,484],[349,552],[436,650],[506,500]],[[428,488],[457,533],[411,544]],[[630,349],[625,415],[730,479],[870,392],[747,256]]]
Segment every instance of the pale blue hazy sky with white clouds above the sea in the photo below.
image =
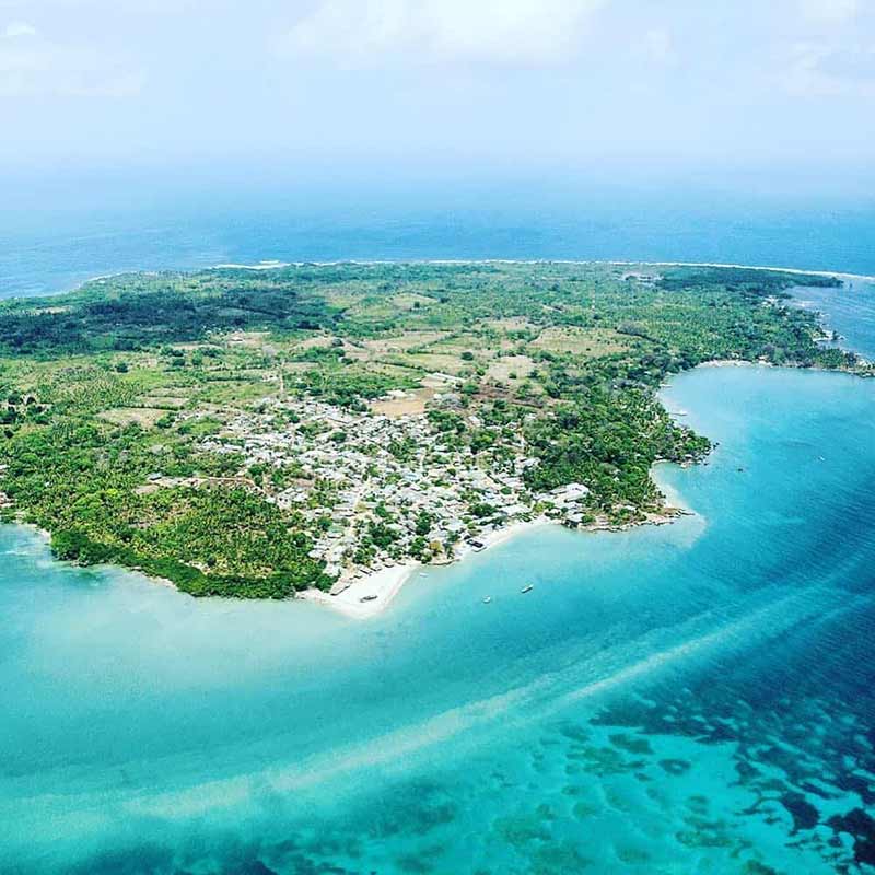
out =
[[874,152],[875,0],[0,0],[7,174],[853,187]]

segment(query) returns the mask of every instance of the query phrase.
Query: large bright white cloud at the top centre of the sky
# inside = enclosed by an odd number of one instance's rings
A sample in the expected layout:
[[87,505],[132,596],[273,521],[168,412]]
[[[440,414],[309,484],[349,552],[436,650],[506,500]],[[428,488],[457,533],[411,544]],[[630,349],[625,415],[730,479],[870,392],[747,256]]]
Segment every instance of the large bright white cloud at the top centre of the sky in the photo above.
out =
[[289,55],[345,67],[423,62],[561,63],[607,0],[320,0],[280,40]]

